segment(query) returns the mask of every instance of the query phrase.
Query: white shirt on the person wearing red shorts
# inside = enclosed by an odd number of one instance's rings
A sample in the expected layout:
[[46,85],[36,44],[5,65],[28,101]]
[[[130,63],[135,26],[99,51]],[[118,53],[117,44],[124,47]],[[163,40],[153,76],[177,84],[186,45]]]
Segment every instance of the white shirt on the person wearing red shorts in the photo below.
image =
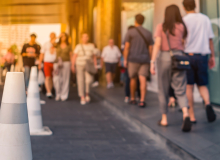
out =
[[[53,63],[56,60],[56,48],[53,48],[53,50],[51,50],[52,47],[53,45],[51,44],[51,42],[46,42],[42,47],[41,53],[44,54],[44,62]],[[51,51],[53,53],[51,53]]]

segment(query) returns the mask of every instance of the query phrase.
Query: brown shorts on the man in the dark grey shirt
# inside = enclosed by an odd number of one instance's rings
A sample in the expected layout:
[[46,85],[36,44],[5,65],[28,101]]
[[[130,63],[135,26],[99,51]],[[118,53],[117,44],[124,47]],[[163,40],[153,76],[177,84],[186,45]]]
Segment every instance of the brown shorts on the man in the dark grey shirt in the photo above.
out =
[[128,74],[130,78],[135,78],[137,76],[149,76],[150,65],[148,63],[128,63]]

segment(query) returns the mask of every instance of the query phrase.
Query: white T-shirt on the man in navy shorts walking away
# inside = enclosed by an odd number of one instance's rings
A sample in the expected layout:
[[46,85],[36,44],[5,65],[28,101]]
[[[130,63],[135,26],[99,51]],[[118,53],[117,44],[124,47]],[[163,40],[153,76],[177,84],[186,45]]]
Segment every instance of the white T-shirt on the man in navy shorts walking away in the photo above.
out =
[[188,30],[185,53],[210,54],[209,40],[214,38],[214,33],[208,16],[201,13],[190,13],[183,20]]

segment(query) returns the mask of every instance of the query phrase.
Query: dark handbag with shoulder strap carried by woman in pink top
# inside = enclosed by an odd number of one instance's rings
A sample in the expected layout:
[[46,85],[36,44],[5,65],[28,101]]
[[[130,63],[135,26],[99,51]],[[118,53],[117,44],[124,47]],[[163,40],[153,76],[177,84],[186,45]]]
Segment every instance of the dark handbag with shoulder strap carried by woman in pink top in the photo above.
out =
[[189,57],[187,57],[186,55],[175,55],[173,53],[174,51],[171,49],[169,33],[167,32],[166,35],[169,46],[169,52],[171,56],[172,70],[179,70],[179,71],[189,70],[191,68]]

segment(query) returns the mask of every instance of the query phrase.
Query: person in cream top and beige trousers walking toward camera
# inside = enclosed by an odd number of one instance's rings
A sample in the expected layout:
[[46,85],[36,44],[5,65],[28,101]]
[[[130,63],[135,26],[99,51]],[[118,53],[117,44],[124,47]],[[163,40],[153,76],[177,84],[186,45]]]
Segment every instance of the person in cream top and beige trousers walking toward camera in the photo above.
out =
[[95,54],[95,46],[89,43],[88,33],[83,33],[81,43],[75,47],[74,55],[72,58],[72,71],[76,72],[78,94],[81,98],[81,105],[89,103],[91,98],[90,87],[93,82],[93,75],[86,70],[87,62],[93,62],[94,67],[97,68],[97,57]]

